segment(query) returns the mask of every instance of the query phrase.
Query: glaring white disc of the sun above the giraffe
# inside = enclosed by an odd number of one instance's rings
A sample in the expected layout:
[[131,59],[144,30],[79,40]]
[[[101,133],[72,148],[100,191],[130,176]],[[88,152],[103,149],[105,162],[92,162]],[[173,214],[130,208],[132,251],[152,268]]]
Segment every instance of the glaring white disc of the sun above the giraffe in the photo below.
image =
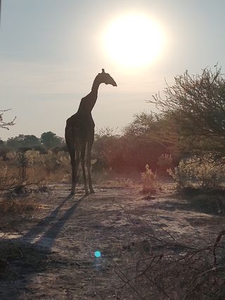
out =
[[124,67],[150,64],[160,53],[164,37],[159,25],[145,15],[126,15],[105,32],[110,56]]

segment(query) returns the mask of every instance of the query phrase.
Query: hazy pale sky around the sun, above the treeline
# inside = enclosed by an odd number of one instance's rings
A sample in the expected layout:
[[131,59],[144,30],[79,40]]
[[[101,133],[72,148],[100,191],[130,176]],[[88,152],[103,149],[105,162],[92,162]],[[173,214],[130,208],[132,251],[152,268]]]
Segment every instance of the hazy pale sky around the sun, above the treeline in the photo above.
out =
[[[129,13],[149,15],[166,39],[150,65],[127,70],[105,50],[103,32]],[[217,62],[224,70],[224,13],[222,0],[2,0],[0,108],[12,108],[5,120],[17,120],[0,137],[44,131],[63,136],[65,120],[102,68],[117,88],[100,86],[96,128],[122,128],[153,108],[146,100],[162,91],[165,79],[172,84],[176,74]]]

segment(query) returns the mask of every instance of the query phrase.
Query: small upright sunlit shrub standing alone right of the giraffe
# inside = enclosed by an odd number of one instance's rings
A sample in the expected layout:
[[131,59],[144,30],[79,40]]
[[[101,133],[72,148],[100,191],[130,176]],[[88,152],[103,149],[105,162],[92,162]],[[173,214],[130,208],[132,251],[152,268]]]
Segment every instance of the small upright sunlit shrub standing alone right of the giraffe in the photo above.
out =
[[141,173],[142,193],[153,195],[158,190],[158,178],[156,172],[154,173],[148,164],[146,164],[146,171]]

